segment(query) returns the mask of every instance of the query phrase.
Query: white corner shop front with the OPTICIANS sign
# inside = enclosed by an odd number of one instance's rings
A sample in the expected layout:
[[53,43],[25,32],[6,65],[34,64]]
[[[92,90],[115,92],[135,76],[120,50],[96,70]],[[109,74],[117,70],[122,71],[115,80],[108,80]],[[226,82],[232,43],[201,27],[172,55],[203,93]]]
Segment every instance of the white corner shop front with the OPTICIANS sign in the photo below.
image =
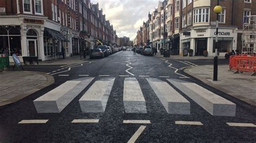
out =
[[[207,51],[209,56],[214,56],[215,37],[214,27],[194,28],[190,31],[182,32],[180,35],[180,55],[183,55],[184,50],[193,49],[193,55],[203,56],[204,51]],[[236,27],[219,28],[217,48],[220,56],[237,49]]]

